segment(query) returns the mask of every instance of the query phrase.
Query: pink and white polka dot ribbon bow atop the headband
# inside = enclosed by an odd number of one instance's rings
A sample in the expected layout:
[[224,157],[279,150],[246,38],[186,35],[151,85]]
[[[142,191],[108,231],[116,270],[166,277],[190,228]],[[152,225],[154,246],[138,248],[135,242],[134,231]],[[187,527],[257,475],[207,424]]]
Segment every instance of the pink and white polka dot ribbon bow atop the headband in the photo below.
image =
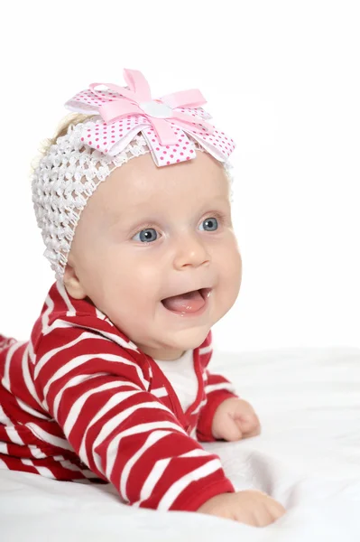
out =
[[198,89],[152,99],[141,71],[124,70],[124,78],[127,87],[92,83],[65,103],[70,111],[99,116],[81,134],[91,148],[115,156],[141,132],[158,166],[195,158],[195,145],[187,134],[220,162],[234,151],[234,141],[206,122],[211,116],[200,107],[207,102]]

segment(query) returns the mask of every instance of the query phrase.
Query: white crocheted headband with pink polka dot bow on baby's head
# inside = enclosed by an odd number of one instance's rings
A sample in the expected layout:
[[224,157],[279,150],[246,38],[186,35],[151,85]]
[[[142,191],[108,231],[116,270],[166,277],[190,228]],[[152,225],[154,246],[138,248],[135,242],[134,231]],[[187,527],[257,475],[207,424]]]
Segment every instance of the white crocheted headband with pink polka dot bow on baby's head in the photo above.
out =
[[206,100],[198,89],[152,99],[140,71],[124,70],[124,78],[127,87],[106,83],[107,89],[97,90],[103,83],[92,83],[65,103],[71,111],[91,117],[69,125],[32,174],[44,256],[61,281],[81,211],[116,167],[146,153],[162,167],[205,151],[230,172],[234,141],[206,122],[211,116],[200,107]]

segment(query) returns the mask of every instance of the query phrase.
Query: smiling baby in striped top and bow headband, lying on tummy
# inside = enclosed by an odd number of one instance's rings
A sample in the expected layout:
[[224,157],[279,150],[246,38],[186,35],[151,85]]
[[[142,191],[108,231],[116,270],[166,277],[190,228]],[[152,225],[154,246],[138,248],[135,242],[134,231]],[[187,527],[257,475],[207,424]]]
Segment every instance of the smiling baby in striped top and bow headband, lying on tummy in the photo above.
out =
[[152,100],[143,74],[67,102],[32,176],[56,282],[30,341],[0,336],[0,468],[115,485],[135,507],[264,526],[282,505],[236,492],[199,442],[258,435],[254,409],[208,370],[235,303],[233,140],[197,89]]

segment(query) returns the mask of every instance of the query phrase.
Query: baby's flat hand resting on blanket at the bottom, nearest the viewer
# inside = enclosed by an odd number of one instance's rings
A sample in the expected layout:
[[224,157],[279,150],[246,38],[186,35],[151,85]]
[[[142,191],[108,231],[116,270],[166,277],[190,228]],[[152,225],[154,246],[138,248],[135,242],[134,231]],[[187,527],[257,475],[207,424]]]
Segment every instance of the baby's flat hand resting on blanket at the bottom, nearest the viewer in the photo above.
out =
[[286,510],[266,493],[251,490],[216,495],[204,502],[198,512],[264,527],[281,518]]

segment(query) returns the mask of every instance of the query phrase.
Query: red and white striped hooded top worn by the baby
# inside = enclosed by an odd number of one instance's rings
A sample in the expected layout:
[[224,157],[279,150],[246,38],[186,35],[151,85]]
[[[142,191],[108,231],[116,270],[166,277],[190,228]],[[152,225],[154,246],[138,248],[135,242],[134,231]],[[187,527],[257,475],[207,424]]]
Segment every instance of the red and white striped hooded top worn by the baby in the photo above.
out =
[[0,468],[111,482],[122,500],[196,510],[235,491],[214,441],[217,406],[235,390],[207,367],[211,332],[193,350],[195,402],[183,412],[152,358],[88,299],[51,286],[30,341],[0,336]]

